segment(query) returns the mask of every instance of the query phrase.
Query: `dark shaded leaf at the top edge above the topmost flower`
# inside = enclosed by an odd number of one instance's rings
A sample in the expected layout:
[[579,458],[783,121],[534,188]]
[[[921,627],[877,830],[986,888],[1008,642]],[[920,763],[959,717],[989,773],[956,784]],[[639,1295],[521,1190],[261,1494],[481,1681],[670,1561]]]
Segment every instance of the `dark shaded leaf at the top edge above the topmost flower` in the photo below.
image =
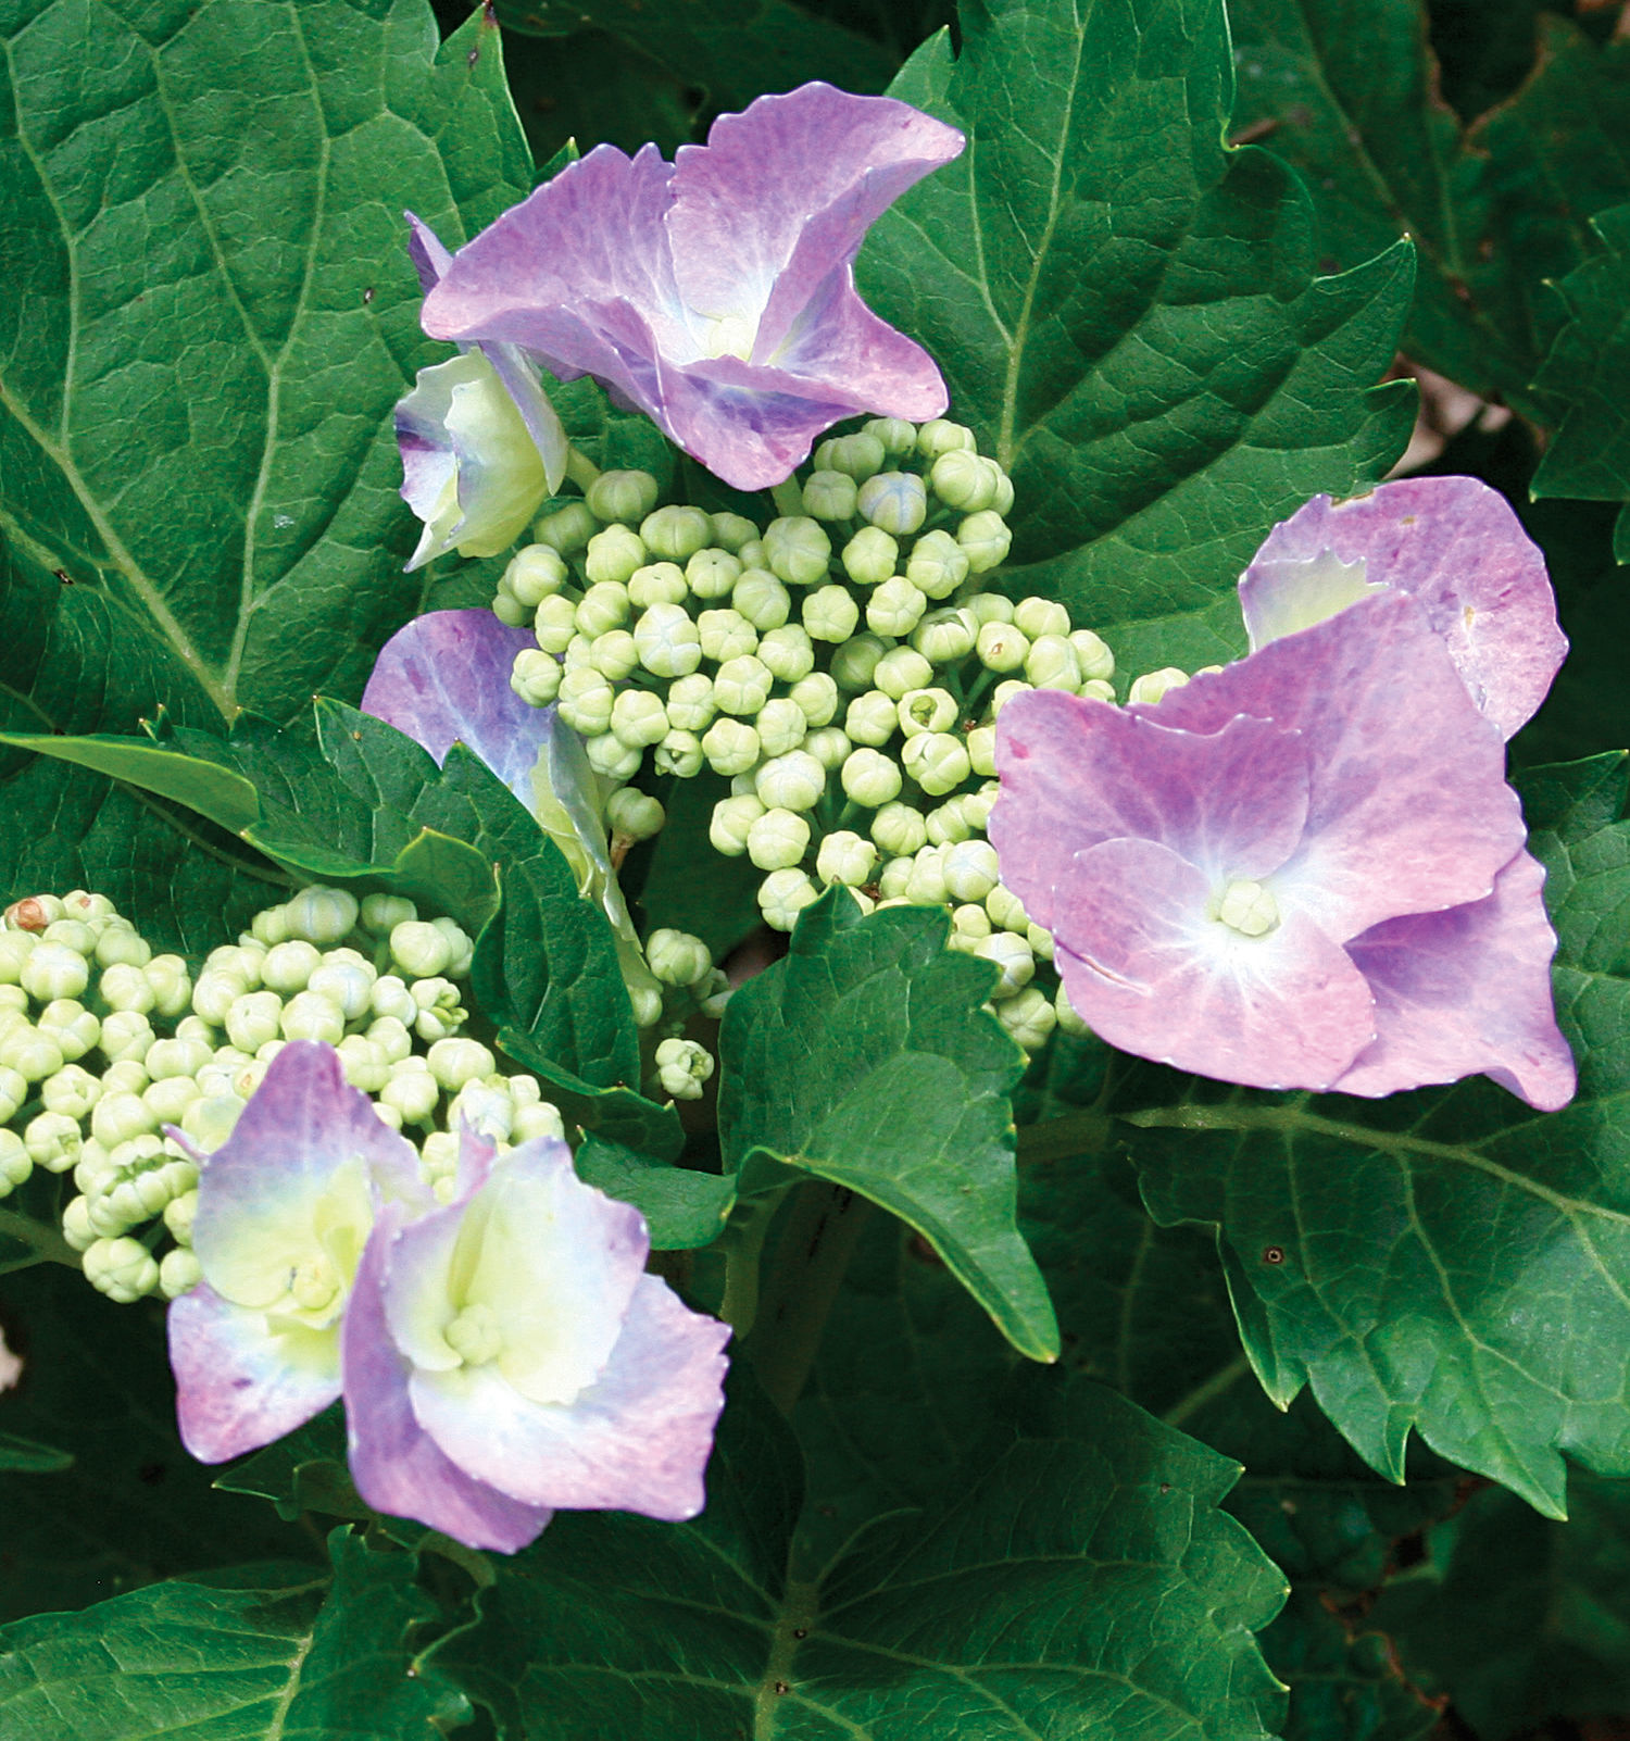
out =
[[[564,37],[592,24],[665,61],[702,85],[714,108],[745,108],[764,91],[825,78],[845,91],[881,91],[895,59],[841,24],[787,0],[711,0],[648,7],[641,0],[496,0],[510,30]],[[648,134],[641,134],[648,138]]]

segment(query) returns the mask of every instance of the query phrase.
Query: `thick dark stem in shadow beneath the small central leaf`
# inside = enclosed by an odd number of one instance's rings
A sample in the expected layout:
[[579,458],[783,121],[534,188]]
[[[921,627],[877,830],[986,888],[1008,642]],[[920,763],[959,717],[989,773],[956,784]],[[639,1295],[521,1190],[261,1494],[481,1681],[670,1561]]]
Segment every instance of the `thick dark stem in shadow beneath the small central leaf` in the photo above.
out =
[[747,1344],[759,1384],[782,1414],[803,1395],[827,1314],[871,1203],[846,1186],[808,1180],[775,1248],[775,1271]]

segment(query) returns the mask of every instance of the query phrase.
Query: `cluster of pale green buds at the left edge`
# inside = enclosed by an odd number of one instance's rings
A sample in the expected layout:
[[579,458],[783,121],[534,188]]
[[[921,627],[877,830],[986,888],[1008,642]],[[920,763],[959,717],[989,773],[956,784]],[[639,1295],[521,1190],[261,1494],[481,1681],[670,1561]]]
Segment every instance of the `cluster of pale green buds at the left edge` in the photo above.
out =
[[174,1299],[199,1280],[195,1156],[284,1045],[322,1039],[448,1198],[465,1123],[500,1149],[562,1135],[536,1079],[461,1032],[474,952],[409,900],[308,888],[195,977],[104,895],[19,900],[0,926],[0,1196],[35,1170],[71,1177],[59,1212],[85,1276],[115,1301]]

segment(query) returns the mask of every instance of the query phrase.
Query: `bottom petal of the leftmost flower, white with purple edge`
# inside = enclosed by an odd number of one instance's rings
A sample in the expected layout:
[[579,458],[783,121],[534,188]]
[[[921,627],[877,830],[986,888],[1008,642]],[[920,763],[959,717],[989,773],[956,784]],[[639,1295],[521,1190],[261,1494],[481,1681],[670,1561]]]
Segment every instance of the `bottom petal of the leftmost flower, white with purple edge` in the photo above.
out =
[[223,1301],[205,1283],[171,1302],[181,1443],[200,1462],[270,1445],[340,1395],[340,1339]]

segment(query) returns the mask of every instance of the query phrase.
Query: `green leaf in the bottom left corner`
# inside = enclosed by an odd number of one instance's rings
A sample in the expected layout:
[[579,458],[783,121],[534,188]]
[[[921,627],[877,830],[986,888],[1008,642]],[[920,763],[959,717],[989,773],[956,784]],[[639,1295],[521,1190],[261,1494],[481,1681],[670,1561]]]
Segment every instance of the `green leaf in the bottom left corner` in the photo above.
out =
[[408,1553],[329,1537],[333,1584],[298,1565],[178,1577],[0,1631],[0,1729],[31,1741],[434,1741],[465,1715],[418,1671],[435,1607]]

